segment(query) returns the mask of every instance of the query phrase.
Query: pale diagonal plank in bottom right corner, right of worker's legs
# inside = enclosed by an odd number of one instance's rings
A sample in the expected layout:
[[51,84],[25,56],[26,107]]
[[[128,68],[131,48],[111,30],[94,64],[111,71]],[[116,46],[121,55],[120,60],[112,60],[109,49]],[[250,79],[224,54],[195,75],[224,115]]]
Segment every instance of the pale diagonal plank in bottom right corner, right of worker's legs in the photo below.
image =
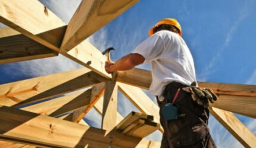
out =
[[256,137],[232,112],[210,108],[211,114],[245,147],[255,147]]

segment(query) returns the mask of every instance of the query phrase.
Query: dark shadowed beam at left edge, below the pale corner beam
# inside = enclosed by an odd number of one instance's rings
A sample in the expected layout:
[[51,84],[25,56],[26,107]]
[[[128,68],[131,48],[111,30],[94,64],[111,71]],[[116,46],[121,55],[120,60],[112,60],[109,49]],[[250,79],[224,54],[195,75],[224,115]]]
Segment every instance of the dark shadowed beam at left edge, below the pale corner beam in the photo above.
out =
[[0,64],[58,56],[58,52],[11,28],[0,28],[0,34]]

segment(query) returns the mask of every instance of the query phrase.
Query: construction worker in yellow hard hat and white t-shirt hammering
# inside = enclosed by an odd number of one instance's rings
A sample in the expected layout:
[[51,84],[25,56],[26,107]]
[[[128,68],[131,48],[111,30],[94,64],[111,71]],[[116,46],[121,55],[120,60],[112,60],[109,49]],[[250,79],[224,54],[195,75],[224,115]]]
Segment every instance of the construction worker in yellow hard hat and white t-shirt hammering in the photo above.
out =
[[151,94],[157,96],[164,128],[161,147],[216,147],[209,133],[208,102],[217,100],[211,89],[198,88],[193,58],[182,38],[179,22],[159,21],[149,38],[117,62],[106,62],[108,73],[151,63]]

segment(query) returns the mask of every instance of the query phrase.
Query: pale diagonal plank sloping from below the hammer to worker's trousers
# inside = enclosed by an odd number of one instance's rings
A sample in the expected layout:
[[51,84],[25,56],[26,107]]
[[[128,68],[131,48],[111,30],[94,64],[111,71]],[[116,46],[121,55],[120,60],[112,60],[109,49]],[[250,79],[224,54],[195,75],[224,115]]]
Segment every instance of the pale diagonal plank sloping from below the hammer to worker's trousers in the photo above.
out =
[[[140,88],[118,82],[118,89],[135,107],[144,114],[153,115],[154,121],[160,123],[159,107]],[[159,129],[164,133],[163,127]]]

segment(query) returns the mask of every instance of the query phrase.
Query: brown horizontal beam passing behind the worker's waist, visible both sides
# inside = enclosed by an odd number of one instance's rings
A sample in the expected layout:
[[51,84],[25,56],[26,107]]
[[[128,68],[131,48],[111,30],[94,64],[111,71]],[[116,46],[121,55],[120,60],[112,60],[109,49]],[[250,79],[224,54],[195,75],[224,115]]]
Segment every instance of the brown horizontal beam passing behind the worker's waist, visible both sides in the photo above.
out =
[[[149,70],[135,68],[118,72],[117,81],[149,89],[152,75]],[[201,88],[211,88],[218,95],[218,101],[210,106],[256,118],[256,85],[214,82],[198,82],[198,85]]]

